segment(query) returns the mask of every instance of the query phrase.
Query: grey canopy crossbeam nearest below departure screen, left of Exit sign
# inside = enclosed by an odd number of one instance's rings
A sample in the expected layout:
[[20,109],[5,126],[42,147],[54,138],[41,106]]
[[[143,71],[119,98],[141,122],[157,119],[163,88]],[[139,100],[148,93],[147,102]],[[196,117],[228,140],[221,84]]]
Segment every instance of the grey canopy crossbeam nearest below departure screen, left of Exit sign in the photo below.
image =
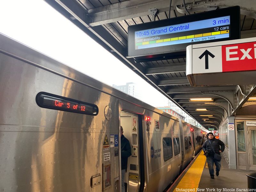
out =
[[146,75],[157,75],[157,74],[165,74],[165,73],[179,73],[186,72],[186,63],[177,63],[175,65],[168,67],[155,67],[145,69]]

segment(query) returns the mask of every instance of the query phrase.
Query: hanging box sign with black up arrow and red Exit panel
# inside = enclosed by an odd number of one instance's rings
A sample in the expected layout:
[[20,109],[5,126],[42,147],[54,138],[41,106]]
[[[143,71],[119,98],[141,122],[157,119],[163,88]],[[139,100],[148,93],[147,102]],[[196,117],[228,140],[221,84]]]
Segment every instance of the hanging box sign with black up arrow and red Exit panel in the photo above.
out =
[[[234,78],[236,83],[254,84],[255,80],[249,78],[256,75],[256,37],[189,45],[186,70],[189,83],[195,86],[214,85],[214,78],[216,85],[221,85],[220,80],[230,84],[225,78]],[[202,76],[212,73],[215,76]],[[212,78],[212,84],[207,78]]]

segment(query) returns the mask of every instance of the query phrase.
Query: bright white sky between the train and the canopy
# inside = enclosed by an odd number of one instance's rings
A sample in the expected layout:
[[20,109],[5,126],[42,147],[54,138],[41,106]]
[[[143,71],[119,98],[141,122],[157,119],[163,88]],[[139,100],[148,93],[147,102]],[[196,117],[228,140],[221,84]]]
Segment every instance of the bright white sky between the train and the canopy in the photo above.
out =
[[0,32],[108,85],[134,82],[141,100],[168,99],[43,0],[0,1]]

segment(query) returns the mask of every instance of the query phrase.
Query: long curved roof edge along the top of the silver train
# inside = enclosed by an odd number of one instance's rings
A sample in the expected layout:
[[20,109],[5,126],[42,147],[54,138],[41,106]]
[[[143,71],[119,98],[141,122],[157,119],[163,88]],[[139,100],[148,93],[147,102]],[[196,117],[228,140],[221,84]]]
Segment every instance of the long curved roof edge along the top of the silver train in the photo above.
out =
[[179,119],[0,33],[0,52],[174,120]]

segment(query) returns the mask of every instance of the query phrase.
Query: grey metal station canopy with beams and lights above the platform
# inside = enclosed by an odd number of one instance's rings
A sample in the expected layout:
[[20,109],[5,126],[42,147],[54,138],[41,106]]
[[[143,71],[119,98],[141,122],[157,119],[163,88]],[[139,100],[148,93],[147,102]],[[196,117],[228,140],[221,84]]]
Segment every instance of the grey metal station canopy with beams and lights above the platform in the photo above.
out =
[[186,76],[186,52],[128,55],[128,27],[166,20],[169,12],[178,18],[238,5],[241,38],[255,37],[255,0],[186,0],[187,10],[183,0],[172,0],[171,7],[170,0],[45,1],[205,128],[217,130],[226,116],[255,116],[256,77],[254,84],[193,87]]

